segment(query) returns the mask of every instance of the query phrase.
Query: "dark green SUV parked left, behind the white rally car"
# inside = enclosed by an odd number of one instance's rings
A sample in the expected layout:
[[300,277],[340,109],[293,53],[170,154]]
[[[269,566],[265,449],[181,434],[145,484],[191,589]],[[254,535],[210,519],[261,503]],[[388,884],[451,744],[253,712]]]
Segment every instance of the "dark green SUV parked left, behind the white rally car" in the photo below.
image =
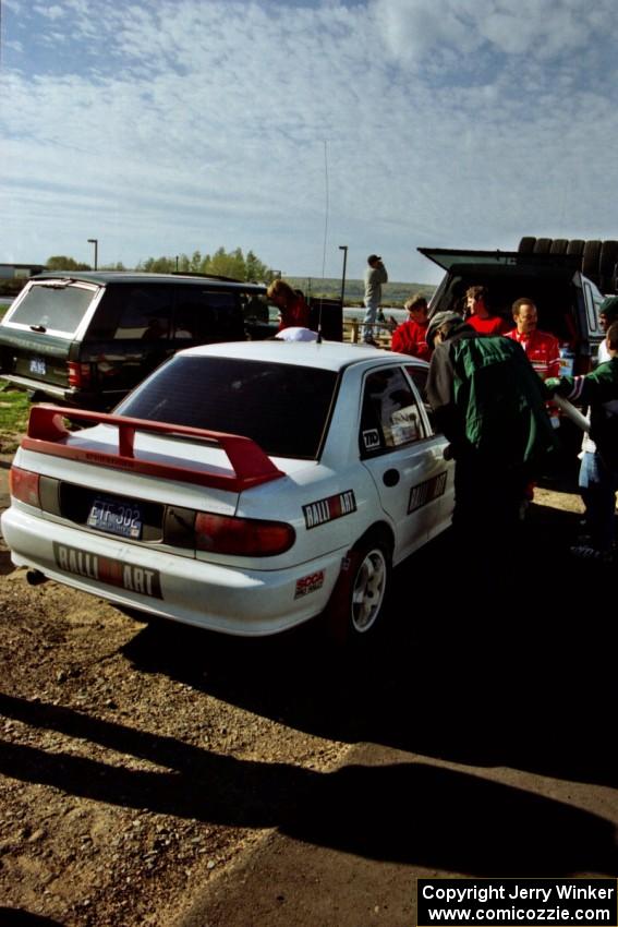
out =
[[40,274],[0,324],[0,376],[33,398],[110,409],[175,351],[244,340],[243,310],[264,292],[210,277]]

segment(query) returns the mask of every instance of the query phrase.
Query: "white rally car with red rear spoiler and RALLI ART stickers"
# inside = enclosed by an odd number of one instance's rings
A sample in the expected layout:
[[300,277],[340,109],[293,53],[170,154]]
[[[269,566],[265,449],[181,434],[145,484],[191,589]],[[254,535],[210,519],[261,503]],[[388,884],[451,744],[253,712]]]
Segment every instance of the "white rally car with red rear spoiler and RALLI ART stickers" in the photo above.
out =
[[355,345],[210,345],[112,414],[36,406],[2,517],[13,563],[228,634],[326,612],[363,635],[391,566],[450,523],[427,369]]

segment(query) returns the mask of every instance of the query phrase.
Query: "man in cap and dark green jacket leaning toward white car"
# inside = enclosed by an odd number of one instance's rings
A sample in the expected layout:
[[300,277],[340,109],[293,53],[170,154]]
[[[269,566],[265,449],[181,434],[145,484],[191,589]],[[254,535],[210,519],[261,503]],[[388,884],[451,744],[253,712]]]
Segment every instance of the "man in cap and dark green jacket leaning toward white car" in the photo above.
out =
[[427,344],[427,400],[456,460],[453,527],[504,555],[525,486],[556,449],[542,382],[517,341],[481,335],[456,312],[431,318]]

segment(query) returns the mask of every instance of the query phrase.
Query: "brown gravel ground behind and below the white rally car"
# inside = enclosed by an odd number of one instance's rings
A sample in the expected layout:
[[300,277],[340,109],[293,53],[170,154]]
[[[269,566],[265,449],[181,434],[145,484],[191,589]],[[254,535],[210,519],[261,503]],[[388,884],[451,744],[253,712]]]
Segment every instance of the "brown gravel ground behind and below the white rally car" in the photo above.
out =
[[0,661],[0,924],[66,927],[178,923],[344,760],[395,672],[350,673],[311,629],[239,641],[144,624],[28,586],[1,545]]

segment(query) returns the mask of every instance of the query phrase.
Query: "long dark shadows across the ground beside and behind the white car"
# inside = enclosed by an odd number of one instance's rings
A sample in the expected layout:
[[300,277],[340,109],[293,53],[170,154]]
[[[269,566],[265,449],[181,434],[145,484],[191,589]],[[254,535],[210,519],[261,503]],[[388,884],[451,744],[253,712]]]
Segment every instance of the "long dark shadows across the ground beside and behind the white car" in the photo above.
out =
[[397,570],[389,633],[351,657],[329,651],[314,627],[242,641],[165,623],[147,626],[124,650],[142,672],[166,673],[255,713],[408,751],[397,761],[385,755],[377,765],[320,773],[2,696],[8,718],[163,770],[5,744],[0,771],[126,807],[278,827],[367,858],[485,876],[613,874],[609,821],[483,776],[501,766],[616,785],[614,611],[594,607],[605,574],[575,570],[565,558],[573,520],[533,510],[504,558],[499,539],[481,551],[440,539]]

